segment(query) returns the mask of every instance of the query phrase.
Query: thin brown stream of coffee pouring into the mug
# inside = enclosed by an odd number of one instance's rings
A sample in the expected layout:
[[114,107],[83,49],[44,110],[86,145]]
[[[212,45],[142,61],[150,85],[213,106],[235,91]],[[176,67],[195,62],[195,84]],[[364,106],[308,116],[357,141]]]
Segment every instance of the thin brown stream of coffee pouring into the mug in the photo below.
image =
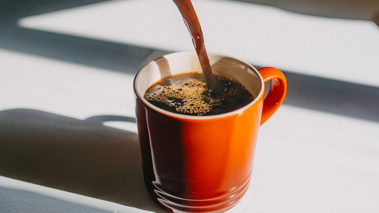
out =
[[189,34],[191,35],[193,46],[195,47],[200,66],[203,70],[207,84],[207,89],[211,92],[218,93],[215,77],[209,64],[207,51],[204,45],[203,32],[200,27],[199,19],[190,0],[173,0],[178,7],[184,22],[187,25]]

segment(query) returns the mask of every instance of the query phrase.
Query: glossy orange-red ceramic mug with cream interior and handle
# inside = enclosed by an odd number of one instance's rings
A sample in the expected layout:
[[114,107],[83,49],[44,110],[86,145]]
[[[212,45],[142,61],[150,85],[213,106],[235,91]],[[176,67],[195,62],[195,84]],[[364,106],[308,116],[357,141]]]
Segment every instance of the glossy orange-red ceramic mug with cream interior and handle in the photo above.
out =
[[[255,99],[219,115],[172,113],[143,96],[160,79],[201,71],[195,52],[171,53],[145,65],[134,79],[143,176],[150,195],[170,212],[224,212],[245,194],[258,129],[282,104],[287,82],[276,68],[256,70],[237,58],[208,53],[212,72],[240,81]],[[265,85],[271,88],[265,96]]]

